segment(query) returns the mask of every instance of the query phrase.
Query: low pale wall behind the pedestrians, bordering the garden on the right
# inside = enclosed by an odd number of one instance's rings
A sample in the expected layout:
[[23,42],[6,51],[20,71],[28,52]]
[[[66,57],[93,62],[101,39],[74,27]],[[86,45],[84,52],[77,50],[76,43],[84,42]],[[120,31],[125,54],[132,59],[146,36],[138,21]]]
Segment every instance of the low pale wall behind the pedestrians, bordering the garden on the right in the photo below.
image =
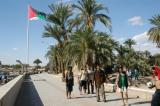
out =
[[[105,84],[105,90],[113,92],[113,84]],[[152,95],[154,94],[154,90],[145,90],[135,87],[129,87],[128,88],[128,95],[140,97],[143,99],[151,99]]]

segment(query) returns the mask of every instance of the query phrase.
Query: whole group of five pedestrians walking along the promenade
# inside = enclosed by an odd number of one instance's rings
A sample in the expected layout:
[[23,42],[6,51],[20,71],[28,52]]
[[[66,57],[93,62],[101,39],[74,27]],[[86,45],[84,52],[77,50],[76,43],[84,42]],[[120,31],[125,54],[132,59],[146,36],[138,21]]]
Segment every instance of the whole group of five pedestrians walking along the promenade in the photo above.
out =
[[[80,95],[83,94],[94,94],[96,90],[97,102],[100,102],[100,95],[102,96],[102,101],[106,102],[105,87],[104,83],[106,81],[105,72],[97,65],[93,70],[89,66],[81,68],[78,75],[78,84]],[[72,67],[68,67],[66,72],[66,96],[67,99],[71,99],[71,92],[74,86],[74,75],[72,72]],[[125,68],[119,68],[117,78],[116,78],[116,89],[122,95],[123,104],[128,103],[128,76]],[[124,99],[125,96],[125,99]]]

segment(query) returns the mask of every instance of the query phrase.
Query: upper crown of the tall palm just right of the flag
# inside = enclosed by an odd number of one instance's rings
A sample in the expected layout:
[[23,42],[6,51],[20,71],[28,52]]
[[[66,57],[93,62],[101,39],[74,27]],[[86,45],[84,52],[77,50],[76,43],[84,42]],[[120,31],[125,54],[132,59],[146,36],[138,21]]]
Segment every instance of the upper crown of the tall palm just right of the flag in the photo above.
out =
[[59,4],[49,5],[51,14],[48,14],[47,21],[51,22],[54,25],[57,25],[61,29],[61,35],[63,40],[67,40],[67,33],[71,31],[70,27],[70,19],[72,16],[72,8],[70,5]]

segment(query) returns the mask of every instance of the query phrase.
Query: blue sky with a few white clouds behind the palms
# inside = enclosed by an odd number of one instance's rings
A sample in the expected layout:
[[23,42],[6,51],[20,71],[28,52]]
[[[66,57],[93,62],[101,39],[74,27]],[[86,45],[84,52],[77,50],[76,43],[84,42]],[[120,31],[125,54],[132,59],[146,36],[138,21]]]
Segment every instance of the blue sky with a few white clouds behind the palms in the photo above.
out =
[[[71,3],[77,0],[62,0]],[[58,3],[60,0],[1,0],[0,1],[0,61],[2,64],[16,64],[27,61],[27,6],[50,13],[48,5]],[[126,39],[134,39],[137,44],[135,50],[149,50],[152,54],[160,53],[160,49],[148,41],[147,31],[153,27],[148,19],[160,14],[160,0],[97,0],[109,9],[108,16],[112,21],[111,35],[123,43]],[[49,45],[56,41],[52,38],[43,38],[43,20],[30,21],[29,25],[29,63],[37,58],[42,64],[47,64],[45,57]],[[108,32],[100,23],[96,29]]]

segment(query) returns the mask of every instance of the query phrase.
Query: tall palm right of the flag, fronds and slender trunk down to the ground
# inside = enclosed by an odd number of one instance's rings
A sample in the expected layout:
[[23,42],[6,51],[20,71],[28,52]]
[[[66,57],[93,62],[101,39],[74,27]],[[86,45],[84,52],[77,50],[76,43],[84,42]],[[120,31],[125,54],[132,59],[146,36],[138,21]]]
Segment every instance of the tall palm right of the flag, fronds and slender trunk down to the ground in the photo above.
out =
[[62,78],[65,77],[64,60],[63,60],[63,49],[64,45],[68,40],[70,27],[70,17],[72,16],[72,8],[70,5],[49,5],[51,14],[47,15],[47,21],[50,22],[45,26],[45,32],[43,37],[52,37],[57,40],[58,51],[59,51],[59,68],[62,72]]

